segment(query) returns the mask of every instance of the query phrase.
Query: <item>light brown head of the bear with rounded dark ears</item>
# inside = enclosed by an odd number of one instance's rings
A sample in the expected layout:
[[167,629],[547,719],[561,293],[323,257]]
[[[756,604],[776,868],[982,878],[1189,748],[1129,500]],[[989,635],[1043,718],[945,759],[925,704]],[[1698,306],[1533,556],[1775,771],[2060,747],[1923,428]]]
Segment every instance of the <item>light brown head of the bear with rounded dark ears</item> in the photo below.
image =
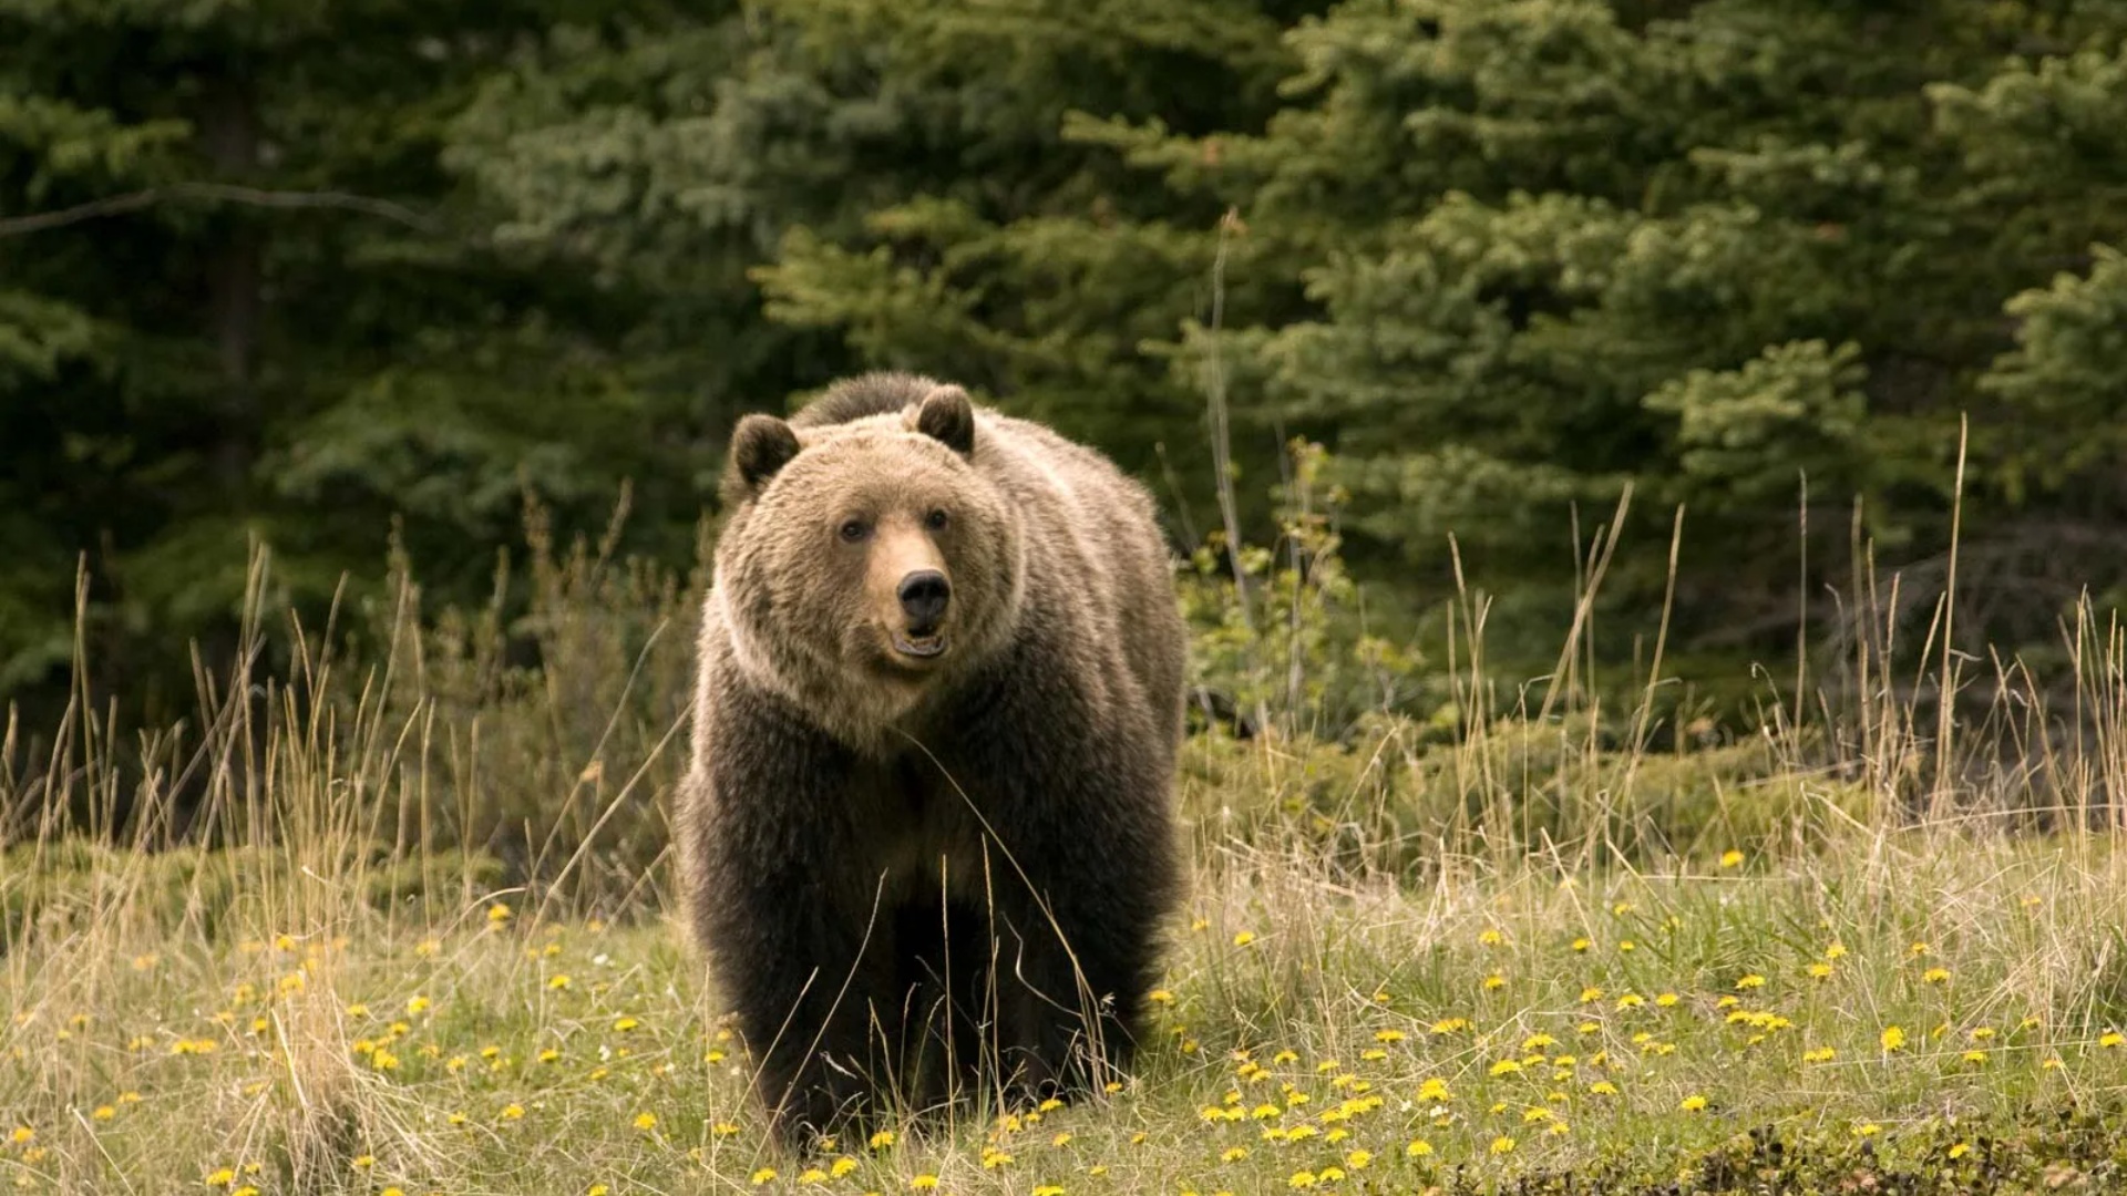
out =
[[978,466],[966,392],[732,434],[715,600],[738,668],[849,743],[876,743],[1019,617],[1017,509]]

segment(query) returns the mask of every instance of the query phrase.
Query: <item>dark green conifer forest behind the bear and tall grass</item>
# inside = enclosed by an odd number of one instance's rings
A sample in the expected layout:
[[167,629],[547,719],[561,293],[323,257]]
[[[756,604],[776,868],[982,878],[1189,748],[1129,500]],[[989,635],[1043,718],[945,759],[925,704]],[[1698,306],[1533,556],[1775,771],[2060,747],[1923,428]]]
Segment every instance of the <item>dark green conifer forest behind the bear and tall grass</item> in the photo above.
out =
[[1857,543],[1927,602],[1953,515],[1961,636],[2044,651],[2127,579],[2118,247],[2127,0],[0,0],[0,700],[79,630],[189,709],[253,545],[313,617],[393,551],[479,607],[625,487],[683,572],[736,417],[874,366],[1178,551],[1215,404],[1251,538],[1321,443],[1402,643],[1453,536],[1548,666],[1629,487],[1604,604],[1682,506],[1674,660],[1791,658]]

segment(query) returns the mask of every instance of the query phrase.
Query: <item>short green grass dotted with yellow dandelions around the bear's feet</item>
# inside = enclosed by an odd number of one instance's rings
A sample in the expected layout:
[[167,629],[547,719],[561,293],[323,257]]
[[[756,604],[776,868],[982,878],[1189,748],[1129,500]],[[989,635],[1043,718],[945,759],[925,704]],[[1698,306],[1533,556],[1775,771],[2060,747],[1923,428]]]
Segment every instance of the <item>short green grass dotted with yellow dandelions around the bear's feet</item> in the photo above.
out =
[[[747,1056],[664,919],[538,921],[517,894],[436,919],[272,909],[211,938],[162,909],[17,941],[0,1179],[810,1185],[766,1145]],[[1451,860],[1423,892],[1210,856],[1121,1092],[813,1166],[840,1192],[2099,1183],[2127,1162],[2123,928],[2127,856],[2095,836],[1889,834],[1674,875]]]

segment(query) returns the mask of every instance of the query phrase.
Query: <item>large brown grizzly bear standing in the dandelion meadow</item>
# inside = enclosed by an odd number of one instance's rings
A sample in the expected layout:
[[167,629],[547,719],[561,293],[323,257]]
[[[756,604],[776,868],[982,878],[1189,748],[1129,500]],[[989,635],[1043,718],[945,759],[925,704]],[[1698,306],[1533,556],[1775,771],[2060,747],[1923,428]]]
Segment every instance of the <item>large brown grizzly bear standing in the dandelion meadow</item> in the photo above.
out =
[[1151,496],[910,375],[747,415],[723,494],[676,834],[776,1136],[1108,1081],[1180,890]]

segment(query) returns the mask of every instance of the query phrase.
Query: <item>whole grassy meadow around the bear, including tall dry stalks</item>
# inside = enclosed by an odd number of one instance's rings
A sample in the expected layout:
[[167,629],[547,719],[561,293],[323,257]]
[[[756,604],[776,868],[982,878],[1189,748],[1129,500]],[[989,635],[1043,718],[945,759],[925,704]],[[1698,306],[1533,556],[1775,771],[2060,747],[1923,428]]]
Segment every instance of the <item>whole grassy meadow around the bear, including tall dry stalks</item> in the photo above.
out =
[[[2127,651],[2093,611],[2042,677],[1948,651],[1942,602],[1855,604],[1825,677],[1699,734],[1659,626],[1604,711],[1591,553],[1553,675],[1495,677],[1466,594],[1453,717],[1329,734],[1323,696],[1383,660],[1325,630],[1329,555],[1257,560],[1255,609],[1200,577],[1206,668],[1268,717],[1187,747],[1193,892],[1136,1075],[800,1160],[668,915],[700,575],[534,547],[517,619],[396,577],[274,628],[262,560],[191,719],[121,738],[83,687],[6,728],[0,1185],[2127,1183]],[[336,647],[357,621],[370,658]]]

